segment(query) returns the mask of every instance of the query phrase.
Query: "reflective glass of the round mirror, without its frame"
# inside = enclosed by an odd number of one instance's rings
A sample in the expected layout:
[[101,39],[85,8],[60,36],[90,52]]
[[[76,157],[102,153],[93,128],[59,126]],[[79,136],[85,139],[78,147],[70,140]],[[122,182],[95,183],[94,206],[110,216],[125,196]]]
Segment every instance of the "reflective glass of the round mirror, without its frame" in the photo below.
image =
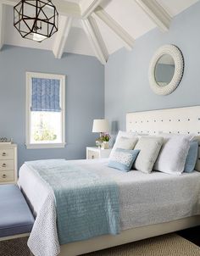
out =
[[175,75],[175,61],[169,54],[161,56],[155,66],[155,81],[159,86],[167,86]]

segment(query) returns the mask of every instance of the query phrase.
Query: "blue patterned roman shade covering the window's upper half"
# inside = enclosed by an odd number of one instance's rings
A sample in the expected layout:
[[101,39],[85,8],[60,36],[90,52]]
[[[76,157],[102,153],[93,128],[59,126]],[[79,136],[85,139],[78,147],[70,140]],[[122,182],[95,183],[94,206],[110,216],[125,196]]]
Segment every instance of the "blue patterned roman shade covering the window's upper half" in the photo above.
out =
[[60,81],[32,78],[31,111],[60,112]]

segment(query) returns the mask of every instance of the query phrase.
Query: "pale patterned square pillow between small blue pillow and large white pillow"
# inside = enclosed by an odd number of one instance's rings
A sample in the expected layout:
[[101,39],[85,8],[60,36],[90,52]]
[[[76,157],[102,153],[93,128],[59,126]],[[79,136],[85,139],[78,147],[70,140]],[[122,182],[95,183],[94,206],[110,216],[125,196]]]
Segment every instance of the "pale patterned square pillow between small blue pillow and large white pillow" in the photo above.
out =
[[134,163],[134,169],[141,170],[144,173],[151,173],[163,141],[164,138],[161,136],[142,136],[136,143],[136,147],[134,147],[135,150],[140,150]]

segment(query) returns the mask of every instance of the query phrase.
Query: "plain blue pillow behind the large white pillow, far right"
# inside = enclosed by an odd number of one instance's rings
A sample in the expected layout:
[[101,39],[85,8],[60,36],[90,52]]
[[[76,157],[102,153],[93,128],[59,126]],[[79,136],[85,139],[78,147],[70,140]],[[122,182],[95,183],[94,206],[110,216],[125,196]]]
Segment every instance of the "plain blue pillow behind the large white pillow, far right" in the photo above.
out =
[[197,162],[198,142],[194,141],[190,143],[190,148],[186,157],[186,164],[184,172],[190,173],[194,170]]

